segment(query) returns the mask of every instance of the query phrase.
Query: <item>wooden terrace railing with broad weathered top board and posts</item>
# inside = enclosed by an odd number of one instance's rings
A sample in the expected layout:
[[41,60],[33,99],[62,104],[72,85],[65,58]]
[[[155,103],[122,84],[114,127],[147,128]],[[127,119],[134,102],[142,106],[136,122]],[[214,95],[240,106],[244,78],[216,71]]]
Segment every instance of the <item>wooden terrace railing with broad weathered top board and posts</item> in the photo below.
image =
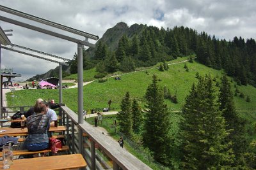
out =
[[[26,111],[30,106],[6,107],[2,117],[6,113],[16,113],[17,111]],[[131,153],[121,148],[117,141],[108,138],[97,127],[93,127],[84,121],[78,123],[78,115],[67,106],[56,110],[60,117],[59,125],[65,125],[65,145],[69,147],[68,153],[81,153],[87,162],[86,169],[151,169],[141,160],[134,157]]]

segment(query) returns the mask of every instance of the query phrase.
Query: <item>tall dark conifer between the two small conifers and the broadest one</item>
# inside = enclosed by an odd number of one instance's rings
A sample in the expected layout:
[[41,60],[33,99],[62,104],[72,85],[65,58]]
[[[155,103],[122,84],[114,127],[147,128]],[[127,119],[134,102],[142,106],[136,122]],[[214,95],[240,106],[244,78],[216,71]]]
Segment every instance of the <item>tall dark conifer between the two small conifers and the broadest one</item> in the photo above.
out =
[[154,159],[170,165],[172,138],[170,135],[170,113],[164,104],[163,89],[157,85],[157,77],[148,85],[143,144],[153,153]]

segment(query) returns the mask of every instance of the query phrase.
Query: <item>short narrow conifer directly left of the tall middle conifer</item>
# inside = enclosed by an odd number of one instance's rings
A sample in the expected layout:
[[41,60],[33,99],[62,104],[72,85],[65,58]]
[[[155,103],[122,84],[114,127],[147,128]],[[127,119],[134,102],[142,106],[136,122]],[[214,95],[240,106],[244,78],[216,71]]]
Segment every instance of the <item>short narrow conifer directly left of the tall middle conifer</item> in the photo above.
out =
[[143,115],[140,109],[140,106],[136,99],[132,101],[132,129],[135,133],[139,133],[141,131],[142,123],[143,123]]

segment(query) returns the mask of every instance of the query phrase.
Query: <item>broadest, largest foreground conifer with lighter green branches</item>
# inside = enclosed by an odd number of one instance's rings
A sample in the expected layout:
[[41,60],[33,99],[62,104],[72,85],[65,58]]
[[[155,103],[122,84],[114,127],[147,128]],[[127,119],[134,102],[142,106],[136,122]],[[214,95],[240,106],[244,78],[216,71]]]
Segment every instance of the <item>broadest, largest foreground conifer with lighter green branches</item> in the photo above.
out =
[[216,104],[211,77],[198,79],[182,108],[180,129],[184,169],[221,169],[232,163],[225,119]]

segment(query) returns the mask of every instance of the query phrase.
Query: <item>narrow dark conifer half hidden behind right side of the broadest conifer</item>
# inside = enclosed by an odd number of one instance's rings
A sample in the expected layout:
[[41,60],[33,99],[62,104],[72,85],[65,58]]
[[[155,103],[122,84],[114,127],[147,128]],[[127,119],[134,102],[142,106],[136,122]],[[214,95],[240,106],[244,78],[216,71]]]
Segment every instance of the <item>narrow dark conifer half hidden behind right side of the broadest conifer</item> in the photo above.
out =
[[233,101],[233,94],[231,91],[231,85],[228,81],[227,76],[223,76],[221,78],[220,95],[218,102],[220,103],[220,111],[222,111],[223,117],[225,118],[227,124],[226,129],[227,131],[230,131],[230,134],[227,136],[226,141],[233,143],[232,148],[234,150],[234,154],[236,155],[236,159],[238,160],[247,145],[244,138],[244,120],[239,118],[236,112]]

